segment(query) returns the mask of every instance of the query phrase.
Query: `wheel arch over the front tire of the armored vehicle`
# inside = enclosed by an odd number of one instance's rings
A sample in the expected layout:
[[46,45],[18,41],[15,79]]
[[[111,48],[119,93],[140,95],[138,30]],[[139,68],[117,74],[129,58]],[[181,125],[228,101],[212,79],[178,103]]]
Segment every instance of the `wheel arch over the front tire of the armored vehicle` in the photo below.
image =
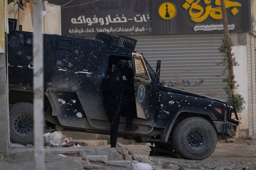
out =
[[[173,119],[172,121],[170,121],[167,125],[166,128],[164,130],[164,133],[161,135],[161,142],[166,143],[168,142],[169,138],[170,138],[170,134],[172,134],[173,130],[175,129],[175,126],[181,122],[183,119],[186,119],[188,117],[202,117],[204,119],[207,119],[214,127],[215,125],[212,122],[212,117],[209,115],[209,113],[198,113],[195,111],[180,111],[175,115],[175,119]],[[215,130],[217,131],[216,127]]]

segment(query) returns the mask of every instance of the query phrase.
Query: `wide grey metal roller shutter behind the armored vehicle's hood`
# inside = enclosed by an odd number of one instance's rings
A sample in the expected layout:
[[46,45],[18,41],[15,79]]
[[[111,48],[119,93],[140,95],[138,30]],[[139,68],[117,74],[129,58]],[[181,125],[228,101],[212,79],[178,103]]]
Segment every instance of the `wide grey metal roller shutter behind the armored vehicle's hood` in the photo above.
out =
[[226,100],[226,84],[222,81],[223,57],[218,51],[223,34],[180,34],[129,36],[137,39],[135,51],[143,53],[155,69],[162,60],[160,81]]

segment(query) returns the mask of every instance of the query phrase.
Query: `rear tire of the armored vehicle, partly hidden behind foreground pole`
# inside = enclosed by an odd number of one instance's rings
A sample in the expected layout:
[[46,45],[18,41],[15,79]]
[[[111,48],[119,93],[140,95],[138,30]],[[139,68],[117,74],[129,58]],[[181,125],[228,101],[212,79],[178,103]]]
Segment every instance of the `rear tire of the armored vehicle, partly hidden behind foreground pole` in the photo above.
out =
[[33,144],[33,105],[27,102],[15,103],[9,110],[10,141],[19,144]]

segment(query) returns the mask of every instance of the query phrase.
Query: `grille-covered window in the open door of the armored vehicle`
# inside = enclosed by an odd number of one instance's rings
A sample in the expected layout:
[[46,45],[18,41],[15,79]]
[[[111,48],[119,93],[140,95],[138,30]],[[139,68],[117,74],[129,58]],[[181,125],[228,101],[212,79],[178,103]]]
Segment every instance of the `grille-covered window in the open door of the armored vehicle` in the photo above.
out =
[[134,56],[134,65],[135,65],[135,75],[139,77],[143,77],[145,79],[150,79],[145,63],[141,57]]

